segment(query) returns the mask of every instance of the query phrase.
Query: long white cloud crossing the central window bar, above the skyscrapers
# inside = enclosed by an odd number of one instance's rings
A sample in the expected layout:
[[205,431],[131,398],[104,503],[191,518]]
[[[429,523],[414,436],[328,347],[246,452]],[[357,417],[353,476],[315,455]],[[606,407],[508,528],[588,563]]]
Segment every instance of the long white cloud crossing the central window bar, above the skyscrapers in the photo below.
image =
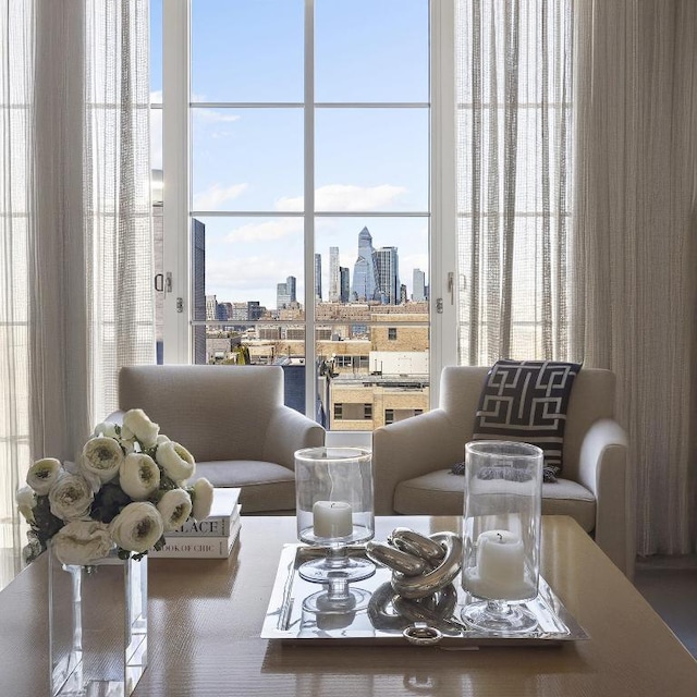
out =
[[[371,211],[384,208],[406,192],[404,186],[354,186],[329,184],[315,191],[315,208],[338,212]],[[303,196],[282,197],[276,201],[277,210],[303,210]]]

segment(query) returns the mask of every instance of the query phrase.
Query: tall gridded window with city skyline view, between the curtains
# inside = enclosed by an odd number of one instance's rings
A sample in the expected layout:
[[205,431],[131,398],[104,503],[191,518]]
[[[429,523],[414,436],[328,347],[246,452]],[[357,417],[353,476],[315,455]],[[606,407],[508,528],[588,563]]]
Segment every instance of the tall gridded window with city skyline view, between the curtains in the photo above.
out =
[[161,359],[299,369],[338,430],[427,409],[428,0],[152,8]]

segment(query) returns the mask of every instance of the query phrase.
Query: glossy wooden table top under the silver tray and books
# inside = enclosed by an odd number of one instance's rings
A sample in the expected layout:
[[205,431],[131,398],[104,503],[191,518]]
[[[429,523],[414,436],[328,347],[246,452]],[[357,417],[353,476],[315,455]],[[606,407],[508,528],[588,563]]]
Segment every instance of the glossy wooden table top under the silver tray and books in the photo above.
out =
[[[455,517],[382,517],[457,529]],[[243,518],[230,559],[149,561],[148,697],[695,697],[697,661],[571,518],[542,517],[541,573],[590,639],[554,647],[291,645],[259,637],[294,517]],[[0,592],[0,695],[48,693],[45,555]]]

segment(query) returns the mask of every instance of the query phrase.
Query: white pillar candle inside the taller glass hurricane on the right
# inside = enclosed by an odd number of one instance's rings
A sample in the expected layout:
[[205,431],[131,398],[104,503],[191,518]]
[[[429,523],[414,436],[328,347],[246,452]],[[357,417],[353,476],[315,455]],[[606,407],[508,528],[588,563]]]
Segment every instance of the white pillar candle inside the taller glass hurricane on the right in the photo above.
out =
[[523,540],[511,530],[487,530],[477,538],[477,565],[465,578],[467,589],[480,598],[523,600],[535,595],[525,578]]

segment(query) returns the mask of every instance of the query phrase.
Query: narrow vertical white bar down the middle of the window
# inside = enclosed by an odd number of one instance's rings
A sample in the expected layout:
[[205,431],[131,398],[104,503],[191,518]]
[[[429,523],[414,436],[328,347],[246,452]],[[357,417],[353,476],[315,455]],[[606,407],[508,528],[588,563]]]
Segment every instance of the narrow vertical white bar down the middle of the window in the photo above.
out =
[[315,0],[305,0],[305,414],[315,415]]

